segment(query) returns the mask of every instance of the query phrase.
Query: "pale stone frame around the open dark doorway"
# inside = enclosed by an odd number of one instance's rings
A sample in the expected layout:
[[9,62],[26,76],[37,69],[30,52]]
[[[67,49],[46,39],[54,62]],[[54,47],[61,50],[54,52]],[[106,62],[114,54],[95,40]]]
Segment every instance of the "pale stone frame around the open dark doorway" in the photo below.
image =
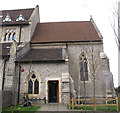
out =
[[48,81],[59,81],[59,103],[61,103],[61,77],[48,77],[46,78],[46,103],[48,103]]

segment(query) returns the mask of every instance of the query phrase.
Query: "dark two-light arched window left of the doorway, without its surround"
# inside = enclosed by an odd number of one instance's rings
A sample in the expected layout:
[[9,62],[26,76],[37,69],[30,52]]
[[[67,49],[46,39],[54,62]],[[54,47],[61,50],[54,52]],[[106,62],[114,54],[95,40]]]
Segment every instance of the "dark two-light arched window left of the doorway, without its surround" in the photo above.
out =
[[39,94],[39,81],[35,74],[28,80],[28,94]]

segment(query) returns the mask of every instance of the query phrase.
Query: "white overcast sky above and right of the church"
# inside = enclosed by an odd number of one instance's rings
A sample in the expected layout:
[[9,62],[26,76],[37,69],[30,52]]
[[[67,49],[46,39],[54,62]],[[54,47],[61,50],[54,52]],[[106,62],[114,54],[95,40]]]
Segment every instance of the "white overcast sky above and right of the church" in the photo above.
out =
[[118,86],[118,51],[114,32],[113,9],[119,0],[2,0],[0,10],[34,8],[39,5],[41,22],[85,21],[92,15],[103,35],[104,51],[110,59],[114,85]]

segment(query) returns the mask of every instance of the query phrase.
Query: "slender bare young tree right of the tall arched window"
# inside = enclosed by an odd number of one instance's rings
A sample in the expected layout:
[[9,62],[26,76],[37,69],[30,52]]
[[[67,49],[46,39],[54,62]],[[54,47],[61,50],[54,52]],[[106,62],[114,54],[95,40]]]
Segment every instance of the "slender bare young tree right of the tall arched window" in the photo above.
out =
[[94,45],[91,45],[90,49],[90,75],[91,75],[91,80],[93,82],[93,100],[94,100],[94,110],[96,110],[96,81],[98,81],[100,78],[101,70],[102,70],[102,61],[100,58],[100,52],[101,50],[95,51]]

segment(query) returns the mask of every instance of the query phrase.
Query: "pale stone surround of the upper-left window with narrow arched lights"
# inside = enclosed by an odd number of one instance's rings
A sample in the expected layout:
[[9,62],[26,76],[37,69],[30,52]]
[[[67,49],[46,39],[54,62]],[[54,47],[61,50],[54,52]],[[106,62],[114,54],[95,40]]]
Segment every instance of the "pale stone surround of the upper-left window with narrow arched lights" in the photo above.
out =
[[[12,35],[13,35],[14,33],[16,34],[16,41],[18,42],[18,27],[3,27],[3,33],[2,33],[1,42],[2,42],[2,43],[10,43],[10,42],[13,42],[12,40],[11,40],[11,41],[5,41],[6,30],[8,30],[8,35],[10,34],[10,30],[13,30],[13,31],[11,31],[11,33],[12,33]],[[16,31],[14,31],[14,30],[16,30]]]

